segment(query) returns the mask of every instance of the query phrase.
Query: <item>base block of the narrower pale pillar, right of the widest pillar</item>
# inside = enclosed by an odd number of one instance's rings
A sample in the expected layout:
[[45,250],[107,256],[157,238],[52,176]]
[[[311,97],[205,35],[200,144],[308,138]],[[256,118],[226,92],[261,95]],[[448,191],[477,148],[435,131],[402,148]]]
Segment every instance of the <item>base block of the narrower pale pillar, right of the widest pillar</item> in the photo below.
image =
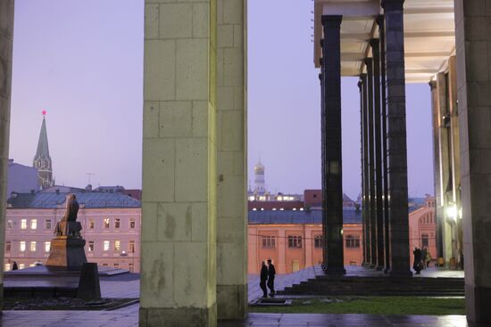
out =
[[218,319],[244,319],[247,307],[247,284],[217,285]]

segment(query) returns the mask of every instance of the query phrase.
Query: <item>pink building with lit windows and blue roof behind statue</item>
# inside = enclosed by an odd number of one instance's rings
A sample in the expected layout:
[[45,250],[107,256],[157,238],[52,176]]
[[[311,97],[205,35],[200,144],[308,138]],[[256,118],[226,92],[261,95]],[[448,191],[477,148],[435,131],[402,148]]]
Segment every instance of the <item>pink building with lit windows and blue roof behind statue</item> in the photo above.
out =
[[[71,188],[73,190],[74,188]],[[78,189],[80,190],[80,189]],[[63,189],[65,191],[65,189]],[[139,272],[141,204],[121,192],[74,192],[88,262]],[[4,270],[45,262],[67,192],[15,193],[7,201]]]

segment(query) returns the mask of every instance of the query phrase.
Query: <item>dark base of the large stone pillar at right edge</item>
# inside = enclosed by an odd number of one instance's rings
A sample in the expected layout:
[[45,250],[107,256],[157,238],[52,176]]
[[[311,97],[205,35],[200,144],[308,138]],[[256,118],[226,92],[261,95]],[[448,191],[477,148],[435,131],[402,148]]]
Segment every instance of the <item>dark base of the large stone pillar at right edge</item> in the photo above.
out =
[[467,320],[482,325],[491,324],[491,287],[476,287],[465,284],[465,307]]

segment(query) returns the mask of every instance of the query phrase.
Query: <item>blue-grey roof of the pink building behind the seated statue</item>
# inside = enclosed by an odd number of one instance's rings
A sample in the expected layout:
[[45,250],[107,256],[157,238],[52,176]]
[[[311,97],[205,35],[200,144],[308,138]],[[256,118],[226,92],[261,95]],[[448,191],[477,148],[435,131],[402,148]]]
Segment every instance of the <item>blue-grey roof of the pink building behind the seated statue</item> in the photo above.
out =
[[[17,193],[8,201],[8,208],[59,208],[67,192]],[[141,202],[120,192],[73,192],[85,208],[140,208]]]

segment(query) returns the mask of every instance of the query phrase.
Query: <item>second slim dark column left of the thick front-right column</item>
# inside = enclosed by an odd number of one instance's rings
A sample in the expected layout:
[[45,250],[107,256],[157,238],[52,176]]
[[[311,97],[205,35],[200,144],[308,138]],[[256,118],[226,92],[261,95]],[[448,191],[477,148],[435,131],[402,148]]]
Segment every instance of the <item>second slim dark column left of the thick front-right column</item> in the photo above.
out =
[[377,219],[377,270],[384,269],[384,205],[382,199],[382,131],[380,129],[380,49],[379,39],[370,40],[373,53],[373,117],[375,132],[375,207]]

